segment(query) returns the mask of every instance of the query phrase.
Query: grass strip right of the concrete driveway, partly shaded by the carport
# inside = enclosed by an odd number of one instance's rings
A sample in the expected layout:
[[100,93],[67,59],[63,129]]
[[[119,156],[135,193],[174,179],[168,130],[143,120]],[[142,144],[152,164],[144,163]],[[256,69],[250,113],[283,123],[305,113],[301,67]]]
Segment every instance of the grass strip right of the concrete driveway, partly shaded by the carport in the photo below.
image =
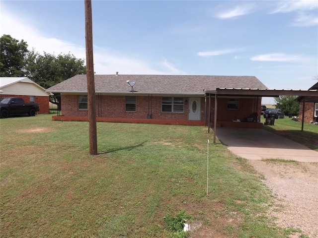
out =
[[[261,117],[261,121],[265,119]],[[263,128],[318,151],[318,125],[304,123],[304,130],[301,131],[302,122],[286,117],[275,119],[274,125],[263,125]]]

